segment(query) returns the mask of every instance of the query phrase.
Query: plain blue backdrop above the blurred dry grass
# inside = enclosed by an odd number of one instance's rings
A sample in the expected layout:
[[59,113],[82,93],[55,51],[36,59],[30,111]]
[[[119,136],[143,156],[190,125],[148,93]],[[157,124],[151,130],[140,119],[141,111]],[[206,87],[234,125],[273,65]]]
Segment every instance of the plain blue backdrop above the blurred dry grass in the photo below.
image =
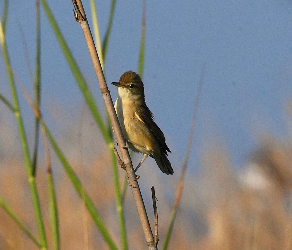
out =
[[[4,1],[0,0],[2,8]],[[30,94],[32,83],[25,61],[20,27],[34,64],[34,1],[10,1],[7,43],[12,66]],[[102,97],[80,24],[71,1],[49,1],[99,107]],[[88,1],[83,1],[91,25]],[[100,32],[105,33],[110,1],[96,1]],[[219,141],[234,166],[241,166],[265,132],[290,138],[286,106],[292,93],[291,1],[147,1],[145,85],[146,102],[166,135],[174,158],[183,158],[203,62],[206,64],[190,168]],[[105,64],[107,82],[137,70],[142,2],[117,1]],[[56,134],[66,124],[54,121],[54,108],[68,110],[77,123],[83,97],[59,45],[41,12],[42,106]],[[10,98],[6,71],[0,61],[0,91]],[[116,87],[110,85],[112,98]],[[32,117],[20,94],[22,110]],[[0,104],[0,112],[4,105]],[[79,110],[79,111],[78,111]],[[78,112],[77,112],[78,111]],[[32,119],[26,119],[27,128]]]

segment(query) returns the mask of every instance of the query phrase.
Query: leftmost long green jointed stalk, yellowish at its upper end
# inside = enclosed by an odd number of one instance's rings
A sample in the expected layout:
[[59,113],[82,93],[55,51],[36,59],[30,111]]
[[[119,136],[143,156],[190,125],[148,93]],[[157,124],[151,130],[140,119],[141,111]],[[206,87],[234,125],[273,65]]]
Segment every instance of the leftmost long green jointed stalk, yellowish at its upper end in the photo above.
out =
[[11,63],[10,63],[10,59],[9,59],[9,55],[8,55],[8,50],[7,50],[7,46],[6,46],[6,42],[5,42],[4,31],[2,29],[1,20],[0,20],[0,40],[1,40],[2,50],[3,50],[4,61],[6,64],[7,75],[8,75],[8,79],[9,79],[9,83],[10,83],[11,95],[13,97],[13,103],[14,103],[14,108],[15,108],[14,113],[15,113],[15,117],[17,120],[17,124],[18,124],[19,135],[20,135],[20,140],[21,140],[22,150],[23,150],[23,157],[25,160],[26,172],[27,172],[27,177],[28,177],[28,182],[29,182],[29,188],[30,188],[30,191],[32,194],[32,202],[33,202],[34,212],[35,212],[35,216],[36,216],[37,228],[39,231],[39,236],[41,239],[42,247],[43,247],[43,249],[47,249],[46,234],[45,234],[45,229],[44,229],[43,218],[41,215],[39,195],[38,195],[37,188],[36,188],[35,176],[33,175],[32,165],[31,165],[31,162],[29,159],[29,149],[28,149],[28,145],[27,145],[25,129],[23,126],[18,96],[17,96],[17,92],[16,92],[15,82],[14,82],[14,78],[13,78]]

